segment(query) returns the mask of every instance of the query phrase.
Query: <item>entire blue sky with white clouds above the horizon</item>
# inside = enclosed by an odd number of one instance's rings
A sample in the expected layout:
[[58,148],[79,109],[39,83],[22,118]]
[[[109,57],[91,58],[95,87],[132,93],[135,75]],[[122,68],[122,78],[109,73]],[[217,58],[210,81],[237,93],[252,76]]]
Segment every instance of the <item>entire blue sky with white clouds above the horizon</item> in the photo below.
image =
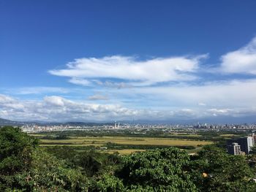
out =
[[0,0],[0,118],[255,123],[255,9]]

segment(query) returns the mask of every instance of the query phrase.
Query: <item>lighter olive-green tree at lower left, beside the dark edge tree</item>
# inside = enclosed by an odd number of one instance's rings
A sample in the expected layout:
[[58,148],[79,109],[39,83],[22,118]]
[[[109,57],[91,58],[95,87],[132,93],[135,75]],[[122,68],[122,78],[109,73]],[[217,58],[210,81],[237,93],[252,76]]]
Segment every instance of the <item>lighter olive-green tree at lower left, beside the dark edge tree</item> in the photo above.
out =
[[26,191],[87,191],[89,185],[81,172],[70,169],[65,161],[60,161],[42,149],[34,151],[29,171],[16,178],[20,178],[16,182]]

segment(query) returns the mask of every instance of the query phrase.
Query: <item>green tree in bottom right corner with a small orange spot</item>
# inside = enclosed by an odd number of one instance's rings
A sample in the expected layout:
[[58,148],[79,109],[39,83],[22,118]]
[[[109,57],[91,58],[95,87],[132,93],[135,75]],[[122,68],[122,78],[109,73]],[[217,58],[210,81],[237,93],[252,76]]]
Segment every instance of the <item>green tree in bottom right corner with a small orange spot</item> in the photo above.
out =
[[255,191],[253,172],[244,156],[208,145],[194,158],[189,168],[200,191]]

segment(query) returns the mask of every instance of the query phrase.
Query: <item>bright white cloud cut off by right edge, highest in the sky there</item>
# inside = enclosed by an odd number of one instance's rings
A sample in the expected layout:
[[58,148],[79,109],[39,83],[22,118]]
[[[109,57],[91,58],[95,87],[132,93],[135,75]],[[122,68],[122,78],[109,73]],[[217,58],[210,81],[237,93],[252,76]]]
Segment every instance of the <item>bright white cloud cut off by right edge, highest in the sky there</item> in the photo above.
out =
[[256,74],[256,37],[248,45],[222,55],[221,60],[222,72]]

